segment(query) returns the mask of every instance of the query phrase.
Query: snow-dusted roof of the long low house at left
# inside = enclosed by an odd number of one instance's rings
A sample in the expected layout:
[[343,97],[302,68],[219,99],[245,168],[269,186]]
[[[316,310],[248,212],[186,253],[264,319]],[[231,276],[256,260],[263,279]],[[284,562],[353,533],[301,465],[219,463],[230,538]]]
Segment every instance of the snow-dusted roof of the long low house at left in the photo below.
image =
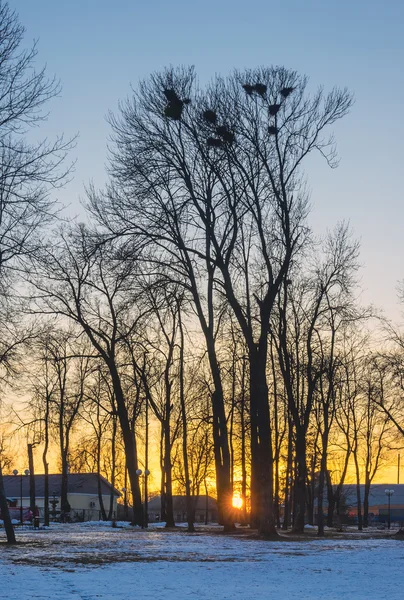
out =
[[[35,475],[35,496],[43,498],[45,496],[45,475]],[[62,487],[62,475],[48,475],[49,477],[49,496],[60,496]],[[29,477],[22,476],[22,496],[29,498]],[[19,475],[3,475],[4,488],[7,498],[20,498],[21,496],[21,477]],[[119,497],[120,492],[112,488],[109,481],[100,475],[101,493],[109,495],[111,489],[114,490],[114,496]],[[98,494],[98,475],[97,473],[69,473],[67,477],[68,494],[89,494],[96,496]]]

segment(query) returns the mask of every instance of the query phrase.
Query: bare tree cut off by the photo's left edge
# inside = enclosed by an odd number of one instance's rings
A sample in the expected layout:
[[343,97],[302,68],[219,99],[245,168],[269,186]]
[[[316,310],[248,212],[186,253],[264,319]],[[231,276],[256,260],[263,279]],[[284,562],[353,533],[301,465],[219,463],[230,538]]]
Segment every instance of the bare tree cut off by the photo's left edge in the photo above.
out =
[[[24,342],[19,326],[18,269],[35,251],[39,233],[55,214],[50,189],[66,180],[63,167],[71,142],[27,141],[27,133],[46,119],[48,101],[59,92],[45,69],[34,70],[36,45],[24,49],[24,27],[9,4],[0,1],[0,369],[9,368]],[[32,138],[33,139],[33,138]],[[23,328],[24,329],[24,328]],[[15,541],[7,506],[7,538]]]

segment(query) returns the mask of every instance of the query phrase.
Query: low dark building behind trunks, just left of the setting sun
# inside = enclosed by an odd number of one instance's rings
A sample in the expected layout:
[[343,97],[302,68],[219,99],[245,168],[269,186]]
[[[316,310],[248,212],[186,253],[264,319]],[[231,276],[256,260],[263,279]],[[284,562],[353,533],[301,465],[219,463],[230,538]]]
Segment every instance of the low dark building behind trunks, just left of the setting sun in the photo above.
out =
[[[194,496],[195,503],[195,522],[196,523],[217,523],[218,511],[217,502],[211,496]],[[177,523],[184,523],[187,520],[187,499],[186,496],[173,496],[174,520]],[[161,521],[161,496],[155,496],[148,503],[149,522]]]

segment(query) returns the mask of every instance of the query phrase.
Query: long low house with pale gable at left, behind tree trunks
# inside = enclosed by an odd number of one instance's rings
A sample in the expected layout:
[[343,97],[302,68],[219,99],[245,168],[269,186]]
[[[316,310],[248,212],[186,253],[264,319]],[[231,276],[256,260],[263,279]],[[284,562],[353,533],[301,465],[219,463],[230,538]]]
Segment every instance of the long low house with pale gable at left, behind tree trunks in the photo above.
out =
[[[40,517],[44,515],[45,476],[35,475],[35,503]],[[49,511],[51,520],[60,518],[60,493],[62,476],[49,475]],[[30,506],[30,478],[21,475],[3,475],[4,488],[12,518],[19,519],[20,507],[23,507],[23,518],[28,518]],[[120,492],[102,475],[97,473],[69,473],[67,479],[67,499],[71,506],[70,519],[73,521],[98,521],[101,518],[98,481],[104,508],[108,514],[110,499],[113,502],[113,516],[116,516],[117,499]],[[22,504],[21,504],[22,500]],[[14,514],[15,513],[15,514]]]

